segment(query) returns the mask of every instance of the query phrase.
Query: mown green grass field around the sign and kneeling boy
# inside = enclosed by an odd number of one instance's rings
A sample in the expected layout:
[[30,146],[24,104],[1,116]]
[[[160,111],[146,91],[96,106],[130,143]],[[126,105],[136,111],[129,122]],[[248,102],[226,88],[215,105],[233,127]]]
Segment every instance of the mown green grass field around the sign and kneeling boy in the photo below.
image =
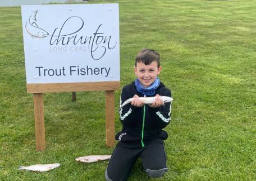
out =
[[[97,1],[90,3],[114,3]],[[168,173],[159,180],[256,180],[256,1],[118,1],[121,87],[134,58],[156,49],[172,90],[165,128]],[[45,93],[46,150],[35,151],[33,96],[26,93],[20,7],[0,8],[0,180],[104,180],[104,92]],[[120,90],[115,92],[116,131]],[[20,165],[61,163],[47,173]],[[129,180],[153,180],[135,164]]]

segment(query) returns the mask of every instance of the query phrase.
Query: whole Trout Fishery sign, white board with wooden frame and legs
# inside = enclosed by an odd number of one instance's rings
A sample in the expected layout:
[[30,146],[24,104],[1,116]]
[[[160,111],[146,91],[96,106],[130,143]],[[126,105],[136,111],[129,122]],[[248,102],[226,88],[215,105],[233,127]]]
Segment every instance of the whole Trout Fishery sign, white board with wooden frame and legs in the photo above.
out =
[[45,149],[43,93],[106,90],[106,145],[115,145],[120,87],[118,4],[21,6],[36,150]]

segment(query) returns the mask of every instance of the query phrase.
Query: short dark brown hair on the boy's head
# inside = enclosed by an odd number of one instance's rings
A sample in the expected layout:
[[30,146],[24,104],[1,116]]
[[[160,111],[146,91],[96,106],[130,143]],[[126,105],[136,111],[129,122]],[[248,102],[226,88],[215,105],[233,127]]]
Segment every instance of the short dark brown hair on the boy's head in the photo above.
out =
[[135,67],[137,66],[137,63],[139,63],[139,62],[141,62],[145,65],[150,65],[153,61],[157,61],[157,68],[159,68],[159,66],[160,66],[160,55],[154,50],[143,49],[136,56]]

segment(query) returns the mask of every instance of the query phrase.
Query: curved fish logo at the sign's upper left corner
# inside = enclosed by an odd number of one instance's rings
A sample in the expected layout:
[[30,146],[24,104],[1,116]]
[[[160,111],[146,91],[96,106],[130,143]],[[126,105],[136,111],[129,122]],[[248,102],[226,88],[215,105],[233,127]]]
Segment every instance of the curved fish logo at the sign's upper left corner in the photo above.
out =
[[32,37],[47,37],[49,33],[45,31],[43,28],[40,28],[37,23],[36,15],[38,10],[36,10],[30,17],[29,20],[26,22],[26,31]]

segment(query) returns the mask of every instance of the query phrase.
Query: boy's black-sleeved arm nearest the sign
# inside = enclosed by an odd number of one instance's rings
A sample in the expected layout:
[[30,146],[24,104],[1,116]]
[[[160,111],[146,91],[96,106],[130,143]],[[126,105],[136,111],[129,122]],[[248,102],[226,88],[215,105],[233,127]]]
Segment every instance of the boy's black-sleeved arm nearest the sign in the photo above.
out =
[[[126,87],[124,87],[121,92],[120,105],[122,105],[122,103],[124,103],[127,99],[133,97],[130,96],[131,93],[129,93],[129,90],[127,90]],[[138,120],[138,116],[140,115],[141,111],[143,111],[142,107],[132,106],[131,103],[126,104],[125,106],[120,108],[120,121],[127,126],[131,126],[136,122],[136,120]]]

